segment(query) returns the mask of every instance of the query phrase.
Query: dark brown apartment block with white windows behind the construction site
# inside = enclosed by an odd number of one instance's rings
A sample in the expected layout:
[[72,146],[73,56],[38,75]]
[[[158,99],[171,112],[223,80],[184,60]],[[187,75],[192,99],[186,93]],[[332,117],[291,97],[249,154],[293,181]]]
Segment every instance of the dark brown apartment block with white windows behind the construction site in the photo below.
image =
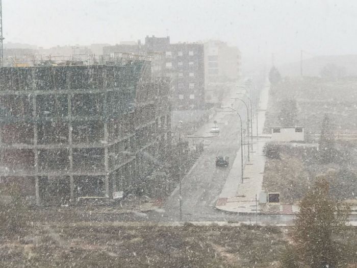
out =
[[171,80],[173,110],[205,110],[205,56],[203,44],[171,44],[169,37],[146,36],[145,44],[104,47],[105,54],[154,55],[152,72]]

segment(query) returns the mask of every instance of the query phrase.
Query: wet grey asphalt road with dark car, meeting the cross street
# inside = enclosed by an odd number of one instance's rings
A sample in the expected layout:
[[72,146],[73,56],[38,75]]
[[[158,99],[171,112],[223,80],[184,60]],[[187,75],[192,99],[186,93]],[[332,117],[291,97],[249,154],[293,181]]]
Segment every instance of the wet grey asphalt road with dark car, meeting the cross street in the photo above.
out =
[[[235,95],[235,92],[231,92]],[[224,104],[231,107],[232,100],[227,96]],[[239,105],[240,103],[236,104]],[[243,129],[246,126],[246,108],[240,104],[235,108],[242,117]],[[244,221],[260,223],[291,222],[293,215],[238,215],[215,208],[215,203],[223,188],[230,167],[216,167],[216,156],[230,157],[230,165],[234,162],[240,144],[240,121],[235,112],[222,109],[213,120],[217,120],[219,135],[210,138],[211,143],[197,159],[190,172],[182,179],[180,187],[172,192],[163,209],[149,212],[147,219],[152,221]],[[243,150],[244,152],[245,150]],[[246,156],[245,156],[246,157]],[[240,172],[237,174],[240,179]],[[180,198],[182,200],[182,218],[180,218]]]

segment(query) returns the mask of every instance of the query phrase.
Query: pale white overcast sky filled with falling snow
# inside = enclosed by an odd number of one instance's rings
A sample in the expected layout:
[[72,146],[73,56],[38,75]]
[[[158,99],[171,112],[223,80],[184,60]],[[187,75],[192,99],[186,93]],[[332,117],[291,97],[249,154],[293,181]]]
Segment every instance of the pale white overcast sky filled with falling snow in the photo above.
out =
[[6,42],[38,46],[220,39],[277,63],[357,54],[357,1],[3,0]]

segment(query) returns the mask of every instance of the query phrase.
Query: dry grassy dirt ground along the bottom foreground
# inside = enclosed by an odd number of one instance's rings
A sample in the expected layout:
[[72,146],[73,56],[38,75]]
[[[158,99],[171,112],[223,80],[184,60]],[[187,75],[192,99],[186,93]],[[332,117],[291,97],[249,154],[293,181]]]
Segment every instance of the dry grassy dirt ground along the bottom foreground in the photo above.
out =
[[30,228],[2,236],[1,267],[279,267],[275,227]]

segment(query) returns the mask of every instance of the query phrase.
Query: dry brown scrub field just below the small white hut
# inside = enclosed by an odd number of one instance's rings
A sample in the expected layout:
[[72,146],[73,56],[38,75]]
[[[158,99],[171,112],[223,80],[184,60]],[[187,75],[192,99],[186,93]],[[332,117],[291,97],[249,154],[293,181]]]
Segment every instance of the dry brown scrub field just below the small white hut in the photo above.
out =
[[338,155],[333,163],[321,164],[316,147],[279,146],[279,159],[267,158],[263,189],[280,192],[283,204],[296,204],[314,184],[320,174],[327,174],[330,193],[337,200],[357,204],[357,158],[353,142],[338,143]]

